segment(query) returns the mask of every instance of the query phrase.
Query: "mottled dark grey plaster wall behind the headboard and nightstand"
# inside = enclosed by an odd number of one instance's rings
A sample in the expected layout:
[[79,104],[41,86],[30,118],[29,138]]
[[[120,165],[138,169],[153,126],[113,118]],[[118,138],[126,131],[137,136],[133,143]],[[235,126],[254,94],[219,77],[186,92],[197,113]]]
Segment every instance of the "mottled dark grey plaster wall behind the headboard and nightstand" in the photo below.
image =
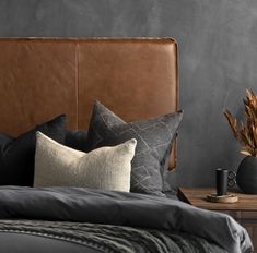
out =
[[0,0],[0,36],[172,36],[180,48],[179,164],[170,182],[211,185],[242,158],[222,116],[257,92],[256,0]]

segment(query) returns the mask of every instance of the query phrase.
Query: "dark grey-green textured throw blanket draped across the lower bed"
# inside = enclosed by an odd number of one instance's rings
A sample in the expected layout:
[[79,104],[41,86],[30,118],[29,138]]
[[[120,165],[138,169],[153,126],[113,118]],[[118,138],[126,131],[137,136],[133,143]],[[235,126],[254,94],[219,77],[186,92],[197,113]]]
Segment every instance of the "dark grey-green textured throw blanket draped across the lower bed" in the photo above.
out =
[[[168,253],[168,252],[219,252],[227,253],[224,249],[215,245],[214,243],[208,242],[202,238],[198,238],[188,233],[178,233],[172,231],[159,231],[159,230],[147,230],[139,228],[131,228],[125,226],[114,226],[114,225],[98,225],[98,224],[87,224],[87,222],[68,222],[68,221],[42,221],[42,220],[4,220],[0,221],[0,242],[1,242],[1,232],[13,232],[20,233],[23,237],[27,237],[30,240],[31,237],[37,237],[37,242],[32,243],[38,244],[44,243],[42,237],[47,239],[56,239],[66,242],[66,245],[61,243],[49,242],[47,240],[46,244],[51,243],[50,250],[56,249],[56,252],[74,252],[79,251],[77,245],[87,246],[86,251],[95,250],[97,252],[113,252],[113,253]],[[22,241],[17,238],[19,244],[21,245]],[[45,240],[46,241],[46,240]],[[73,243],[74,245],[69,245]],[[2,242],[0,245],[4,245]],[[36,246],[36,245],[35,245]],[[67,249],[69,246],[70,249]],[[38,245],[37,245],[38,248]],[[61,251],[58,251],[59,249]],[[27,245],[26,245],[26,253]],[[46,250],[46,249],[44,249]],[[65,251],[63,251],[65,250]],[[89,251],[89,252],[87,252]],[[13,252],[10,251],[10,252]],[[33,251],[32,251],[33,252]],[[35,252],[35,251],[34,251]],[[48,251],[45,251],[49,253]],[[80,252],[80,251],[79,251]],[[19,252],[20,253],[20,252]]]

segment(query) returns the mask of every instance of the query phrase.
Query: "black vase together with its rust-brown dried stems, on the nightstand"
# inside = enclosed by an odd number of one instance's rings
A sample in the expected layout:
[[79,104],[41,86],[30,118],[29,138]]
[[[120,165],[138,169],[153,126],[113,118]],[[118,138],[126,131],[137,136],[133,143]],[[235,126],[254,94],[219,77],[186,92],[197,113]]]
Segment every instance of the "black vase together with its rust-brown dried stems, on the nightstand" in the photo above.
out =
[[246,156],[236,172],[236,183],[245,193],[257,194],[257,95],[246,89],[244,122],[238,122],[229,110],[224,115],[234,137],[241,143],[241,153]]

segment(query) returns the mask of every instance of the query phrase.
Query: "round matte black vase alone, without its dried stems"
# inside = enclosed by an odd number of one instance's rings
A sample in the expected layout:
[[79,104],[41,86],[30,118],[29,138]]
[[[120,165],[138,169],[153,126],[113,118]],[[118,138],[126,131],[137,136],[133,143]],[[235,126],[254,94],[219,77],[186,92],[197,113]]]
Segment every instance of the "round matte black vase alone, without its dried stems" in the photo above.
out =
[[236,183],[244,193],[257,194],[257,157],[246,156],[241,161]]

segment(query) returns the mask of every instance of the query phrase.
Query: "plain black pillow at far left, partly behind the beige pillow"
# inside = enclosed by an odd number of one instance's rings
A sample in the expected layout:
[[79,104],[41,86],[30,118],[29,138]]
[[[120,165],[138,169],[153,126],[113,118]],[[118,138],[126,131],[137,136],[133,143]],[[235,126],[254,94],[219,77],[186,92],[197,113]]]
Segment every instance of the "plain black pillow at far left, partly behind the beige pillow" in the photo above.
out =
[[36,131],[63,143],[66,136],[65,115],[36,125],[16,138],[0,134],[0,185],[33,185]]

